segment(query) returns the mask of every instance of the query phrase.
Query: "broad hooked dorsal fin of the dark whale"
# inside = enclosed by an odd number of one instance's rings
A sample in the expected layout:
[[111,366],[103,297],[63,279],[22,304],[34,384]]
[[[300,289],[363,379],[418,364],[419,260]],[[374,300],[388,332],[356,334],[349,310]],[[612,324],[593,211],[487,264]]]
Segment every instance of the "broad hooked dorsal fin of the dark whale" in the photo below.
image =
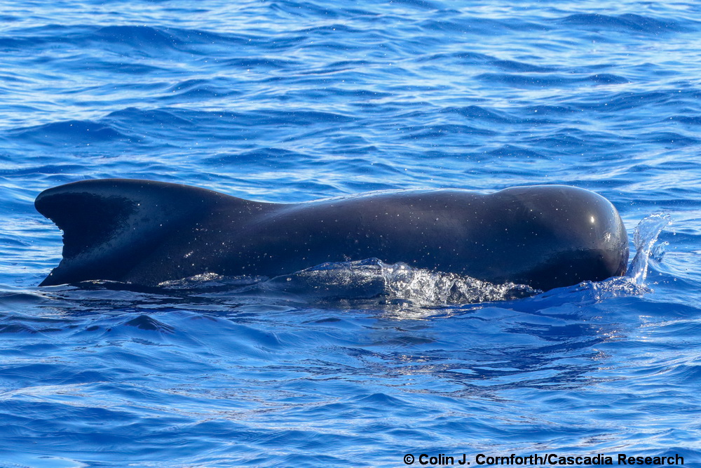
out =
[[266,205],[151,180],[83,180],[45,190],[34,206],[62,229],[64,246],[60,265],[39,286],[119,281],[183,225],[224,206],[245,215]]

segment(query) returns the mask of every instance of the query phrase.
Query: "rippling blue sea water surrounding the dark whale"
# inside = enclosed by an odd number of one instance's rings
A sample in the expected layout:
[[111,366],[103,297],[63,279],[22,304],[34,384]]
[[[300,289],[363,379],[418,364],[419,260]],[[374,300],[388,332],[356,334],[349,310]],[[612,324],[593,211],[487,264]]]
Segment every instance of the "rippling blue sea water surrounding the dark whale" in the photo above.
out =
[[[0,466],[701,466],[698,2],[0,6]],[[489,302],[373,262],[363,300],[38,288],[62,241],[34,198],[107,177],[273,202],[576,185],[640,255],[624,279]]]

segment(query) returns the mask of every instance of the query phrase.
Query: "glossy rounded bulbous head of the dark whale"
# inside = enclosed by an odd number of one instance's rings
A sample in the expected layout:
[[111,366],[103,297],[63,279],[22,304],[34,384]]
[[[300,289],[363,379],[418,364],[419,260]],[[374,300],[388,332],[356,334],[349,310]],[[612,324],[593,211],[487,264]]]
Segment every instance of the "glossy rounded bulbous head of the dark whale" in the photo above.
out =
[[517,262],[524,282],[548,290],[625,274],[627,232],[603,196],[564,185],[513,187],[497,194],[510,207],[510,229],[524,239],[523,261]]

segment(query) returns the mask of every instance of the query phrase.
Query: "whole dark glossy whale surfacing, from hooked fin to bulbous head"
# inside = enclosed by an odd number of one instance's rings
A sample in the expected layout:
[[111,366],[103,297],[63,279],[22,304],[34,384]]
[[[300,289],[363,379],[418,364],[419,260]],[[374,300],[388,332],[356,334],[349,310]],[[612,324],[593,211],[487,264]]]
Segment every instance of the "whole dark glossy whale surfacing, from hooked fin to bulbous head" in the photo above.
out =
[[548,290],[622,275],[628,260],[613,205],[563,185],[282,204],[105,179],[48,189],[35,206],[64,232],[63,260],[40,286],[97,279],[157,286],[204,272],[276,276],[379,258]]

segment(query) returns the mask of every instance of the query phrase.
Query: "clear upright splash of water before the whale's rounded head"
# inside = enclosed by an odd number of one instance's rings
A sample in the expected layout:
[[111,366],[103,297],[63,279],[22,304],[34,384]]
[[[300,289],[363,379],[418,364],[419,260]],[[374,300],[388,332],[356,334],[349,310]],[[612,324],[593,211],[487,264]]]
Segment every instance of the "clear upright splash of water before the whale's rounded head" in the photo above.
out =
[[643,218],[635,227],[633,243],[636,252],[626,276],[636,286],[644,286],[650,258],[658,260],[662,258],[667,243],[660,243],[658,246],[655,246],[655,243],[662,229],[670,224],[672,224],[672,218],[667,213],[654,213]]

